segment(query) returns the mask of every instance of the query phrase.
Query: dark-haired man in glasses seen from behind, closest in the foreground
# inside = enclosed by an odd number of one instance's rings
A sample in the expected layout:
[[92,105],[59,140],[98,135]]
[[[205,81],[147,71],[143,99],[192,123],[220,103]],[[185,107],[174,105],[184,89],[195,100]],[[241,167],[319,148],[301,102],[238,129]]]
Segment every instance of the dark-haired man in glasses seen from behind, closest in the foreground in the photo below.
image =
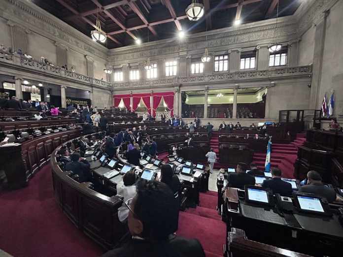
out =
[[136,187],[136,196],[125,202],[132,237],[103,257],[205,257],[197,239],[173,235],[178,205],[169,187],[145,180],[139,180]]

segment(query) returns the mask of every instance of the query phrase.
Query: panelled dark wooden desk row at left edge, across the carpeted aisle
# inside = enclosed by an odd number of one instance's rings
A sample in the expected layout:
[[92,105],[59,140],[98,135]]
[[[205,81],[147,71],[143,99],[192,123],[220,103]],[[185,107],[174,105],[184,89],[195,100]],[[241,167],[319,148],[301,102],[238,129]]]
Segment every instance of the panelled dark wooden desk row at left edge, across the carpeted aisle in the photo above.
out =
[[27,185],[28,180],[51,157],[60,144],[81,135],[81,129],[42,135],[22,144],[0,147],[0,163],[10,189]]

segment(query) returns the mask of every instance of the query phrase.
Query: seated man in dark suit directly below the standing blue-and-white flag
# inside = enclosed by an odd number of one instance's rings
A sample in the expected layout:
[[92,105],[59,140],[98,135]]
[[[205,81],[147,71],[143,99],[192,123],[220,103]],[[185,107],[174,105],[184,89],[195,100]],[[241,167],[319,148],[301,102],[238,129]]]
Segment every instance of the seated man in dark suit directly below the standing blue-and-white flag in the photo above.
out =
[[281,195],[292,194],[292,185],[281,180],[281,170],[279,168],[272,169],[272,179],[266,179],[263,181],[261,187],[269,188],[273,193],[279,193]]

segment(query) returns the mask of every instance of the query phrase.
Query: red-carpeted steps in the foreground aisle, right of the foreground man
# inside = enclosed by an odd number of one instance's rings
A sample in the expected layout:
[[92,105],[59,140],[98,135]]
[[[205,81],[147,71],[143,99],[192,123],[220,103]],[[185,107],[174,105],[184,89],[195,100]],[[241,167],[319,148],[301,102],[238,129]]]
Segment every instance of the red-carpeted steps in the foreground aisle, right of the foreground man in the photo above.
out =
[[217,192],[200,193],[199,197],[199,206],[179,213],[177,235],[198,239],[206,257],[222,257],[226,224],[216,211]]

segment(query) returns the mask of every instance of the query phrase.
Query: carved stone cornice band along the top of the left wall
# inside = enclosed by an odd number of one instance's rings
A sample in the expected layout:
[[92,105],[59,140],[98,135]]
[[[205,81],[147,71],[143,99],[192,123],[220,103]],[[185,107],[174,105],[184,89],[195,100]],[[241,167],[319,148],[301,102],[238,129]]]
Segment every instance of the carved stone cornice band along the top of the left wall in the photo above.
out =
[[[92,55],[106,59],[107,49],[94,43],[91,38],[73,29],[30,1],[0,0],[0,9],[5,19],[34,32],[48,34],[49,39],[62,41],[69,47],[77,47]],[[51,17],[49,17],[51,16]]]

